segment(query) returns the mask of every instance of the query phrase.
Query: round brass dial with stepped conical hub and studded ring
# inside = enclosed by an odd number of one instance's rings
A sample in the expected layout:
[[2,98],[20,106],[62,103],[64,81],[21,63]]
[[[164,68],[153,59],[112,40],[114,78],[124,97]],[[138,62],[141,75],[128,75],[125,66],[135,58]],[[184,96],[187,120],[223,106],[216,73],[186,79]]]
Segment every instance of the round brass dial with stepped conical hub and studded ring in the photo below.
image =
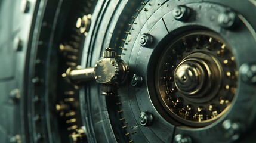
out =
[[225,113],[235,95],[226,85],[236,83],[235,58],[226,45],[215,33],[190,32],[164,50],[156,89],[170,116],[184,125],[205,126]]

